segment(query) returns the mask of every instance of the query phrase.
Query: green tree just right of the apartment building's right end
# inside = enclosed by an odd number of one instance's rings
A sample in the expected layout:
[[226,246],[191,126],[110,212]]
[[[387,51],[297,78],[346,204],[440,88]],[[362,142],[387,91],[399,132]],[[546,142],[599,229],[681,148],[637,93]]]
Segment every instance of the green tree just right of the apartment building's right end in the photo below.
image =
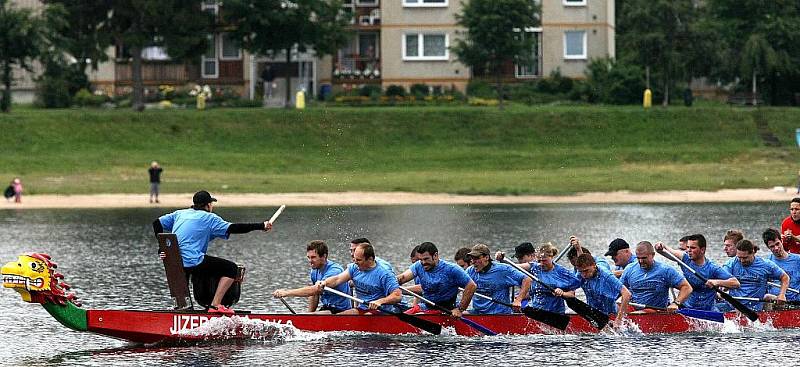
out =
[[[695,24],[700,10],[694,0],[627,0],[620,2],[618,47],[620,59],[648,67],[660,79],[664,106],[678,80],[691,79],[693,63],[707,50],[703,30]],[[705,60],[707,63],[708,61]]]

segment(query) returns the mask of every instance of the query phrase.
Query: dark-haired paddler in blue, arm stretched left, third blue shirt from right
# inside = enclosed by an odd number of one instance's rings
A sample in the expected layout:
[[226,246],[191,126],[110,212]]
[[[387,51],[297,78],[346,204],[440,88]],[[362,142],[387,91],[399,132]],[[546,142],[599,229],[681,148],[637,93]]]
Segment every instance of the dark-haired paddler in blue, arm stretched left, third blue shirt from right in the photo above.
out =
[[692,286],[692,293],[684,306],[696,310],[719,311],[716,306],[717,292],[714,287],[725,287],[728,289],[739,288],[739,281],[725,270],[722,266],[706,258],[706,238],[701,234],[686,236],[686,251],[675,250],[661,242],[655,244],[656,250],[668,251],[676,259],[680,259],[684,264],[689,265],[694,271],[708,279],[703,282],[692,272],[681,266],[683,276]]

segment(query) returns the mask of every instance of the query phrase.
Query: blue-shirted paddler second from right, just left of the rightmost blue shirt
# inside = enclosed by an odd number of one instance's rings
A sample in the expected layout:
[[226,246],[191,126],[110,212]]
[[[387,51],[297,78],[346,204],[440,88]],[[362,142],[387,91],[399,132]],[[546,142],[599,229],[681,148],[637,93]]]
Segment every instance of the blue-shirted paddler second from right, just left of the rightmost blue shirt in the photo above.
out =
[[[742,284],[738,289],[729,292],[731,296],[763,299],[767,294],[767,282],[780,279],[781,288],[778,290],[777,301],[786,301],[789,275],[774,262],[756,257],[756,247],[750,240],[744,239],[736,244],[736,257],[725,264],[725,269]],[[742,304],[754,311],[761,311],[763,306],[761,302],[755,301],[742,301]]]

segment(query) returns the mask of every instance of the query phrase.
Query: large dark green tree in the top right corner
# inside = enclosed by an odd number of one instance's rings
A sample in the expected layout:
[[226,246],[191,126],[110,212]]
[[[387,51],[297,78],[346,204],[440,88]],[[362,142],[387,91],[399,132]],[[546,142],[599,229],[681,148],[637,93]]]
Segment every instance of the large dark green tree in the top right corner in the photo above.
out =
[[754,93],[760,79],[771,104],[790,102],[800,92],[800,3],[709,0],[707,6],[724,50],[719,79],[750,84]]

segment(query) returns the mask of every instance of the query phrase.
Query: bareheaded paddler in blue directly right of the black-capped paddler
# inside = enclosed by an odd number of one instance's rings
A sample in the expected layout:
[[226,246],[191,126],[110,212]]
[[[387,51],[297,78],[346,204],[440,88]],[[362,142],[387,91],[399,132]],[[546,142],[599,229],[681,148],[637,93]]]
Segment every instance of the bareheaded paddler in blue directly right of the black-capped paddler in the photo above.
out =
[[[632,303],[675,311],[689,298],[692,286],[675,268],[656,261],[655,255],[652,243],[639,242],[636,245],[637,263],[627,266],[619,280],[631,291]],[[678,290],[673,302],[669,301],[670,288]]]

